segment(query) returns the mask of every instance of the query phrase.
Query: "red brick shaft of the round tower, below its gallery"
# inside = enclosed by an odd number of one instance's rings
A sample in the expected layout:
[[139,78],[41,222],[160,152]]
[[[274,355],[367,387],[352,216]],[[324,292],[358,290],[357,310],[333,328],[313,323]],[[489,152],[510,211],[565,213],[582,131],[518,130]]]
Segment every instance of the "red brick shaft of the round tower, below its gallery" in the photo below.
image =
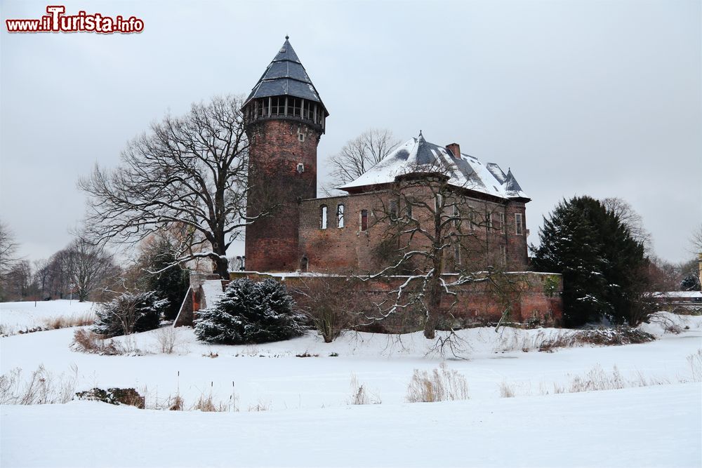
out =
[[[304,135],[300,141],[299,135]],[[302,121],[260,121],[247,129],[249,217],[272,204],[274,215],[246,227],[246,269],[294,271],[300,267],[300,200],[317,196],[317,145],[321,133]],[[304,171],[298,172],[298,163]]]

